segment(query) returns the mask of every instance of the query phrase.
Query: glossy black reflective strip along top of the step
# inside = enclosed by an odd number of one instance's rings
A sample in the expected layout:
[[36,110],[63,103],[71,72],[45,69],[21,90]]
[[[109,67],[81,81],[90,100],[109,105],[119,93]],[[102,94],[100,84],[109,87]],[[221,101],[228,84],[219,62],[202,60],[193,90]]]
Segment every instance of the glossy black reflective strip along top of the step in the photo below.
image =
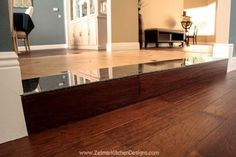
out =
[[[193,56],[167,61],[155,61],[125,66],[97,68],[93,70],[78,70],[77,73],[64,71],[56,75],[25,79],[22,82],[24,93],[32,94],[86,85],[94,82],[122,79],[125,77],[138,76],[141,74],[161,71],[164,72],[167,70],[191,67],[193,65],[210,63],[219,60],[222,60],[222,58],[210,56]],[[215,68],[217,69],[218,67]]]

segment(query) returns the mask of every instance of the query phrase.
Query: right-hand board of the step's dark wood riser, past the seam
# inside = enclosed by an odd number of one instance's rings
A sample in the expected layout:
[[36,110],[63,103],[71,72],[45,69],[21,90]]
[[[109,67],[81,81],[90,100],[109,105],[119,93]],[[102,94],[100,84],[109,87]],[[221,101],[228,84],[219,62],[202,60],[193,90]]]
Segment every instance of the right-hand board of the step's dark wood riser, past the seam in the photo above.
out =
[[180,89],[188,84],[226,75],[227,60],[141,75],[141,99],[147,99]]

